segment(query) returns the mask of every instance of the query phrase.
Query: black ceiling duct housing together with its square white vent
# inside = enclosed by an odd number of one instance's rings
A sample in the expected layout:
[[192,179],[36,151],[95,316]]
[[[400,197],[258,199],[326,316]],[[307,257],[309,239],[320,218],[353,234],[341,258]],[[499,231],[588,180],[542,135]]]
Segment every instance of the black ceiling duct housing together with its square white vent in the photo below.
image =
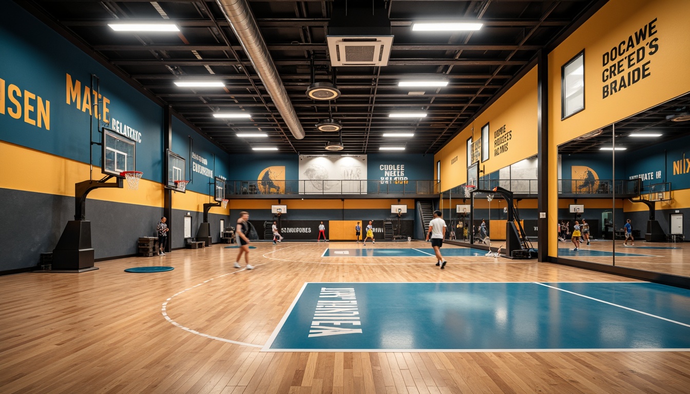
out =
[[393,35],[384,1],[333,1],[328,22],[331,66],[388,66]]

